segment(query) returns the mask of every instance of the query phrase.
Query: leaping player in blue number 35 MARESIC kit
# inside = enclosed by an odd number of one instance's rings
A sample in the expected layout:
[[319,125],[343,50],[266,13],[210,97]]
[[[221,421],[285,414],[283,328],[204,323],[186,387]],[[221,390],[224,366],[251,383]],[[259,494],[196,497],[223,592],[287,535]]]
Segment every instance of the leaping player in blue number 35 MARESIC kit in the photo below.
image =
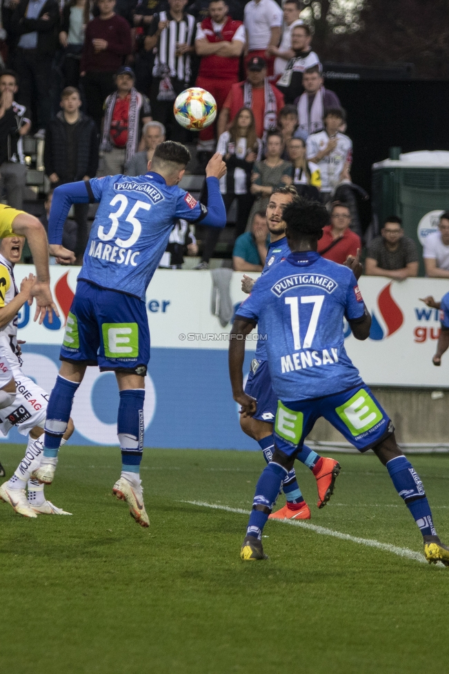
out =
[[128,503],[132,517],[143,527],[148,526],[139,478],[150,358],[146,288],[179,218],[211,227],[226,224],[219,190],[219,178],[226,173],[221,155],[214,155],[206,166],[207,206],[178,187],[189,160],[183,145],[168,141],[157,146],[146,175],[110,175],[62,185],[54,191],[48,223],[50,253],[58,256],[70,205],[99,202],[67,318],[63,362],[48,402],[43,459],[34,476],[52,482],[59,444],[86,367],[111,370],[119,385],[117,434],[122,458],[121,476],[112,492]]

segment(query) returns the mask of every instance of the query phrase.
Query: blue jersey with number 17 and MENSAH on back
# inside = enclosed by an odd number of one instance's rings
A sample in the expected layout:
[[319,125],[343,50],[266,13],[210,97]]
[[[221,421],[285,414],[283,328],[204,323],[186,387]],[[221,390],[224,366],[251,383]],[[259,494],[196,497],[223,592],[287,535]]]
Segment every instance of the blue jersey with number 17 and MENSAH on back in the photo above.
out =
[[365,305],[348,267],[318,253],[290,253],[255,283],[236,318],[266,334],[272,387],[282,401],[337,394],[361,385],[344,347],[343,317],[363,318]]

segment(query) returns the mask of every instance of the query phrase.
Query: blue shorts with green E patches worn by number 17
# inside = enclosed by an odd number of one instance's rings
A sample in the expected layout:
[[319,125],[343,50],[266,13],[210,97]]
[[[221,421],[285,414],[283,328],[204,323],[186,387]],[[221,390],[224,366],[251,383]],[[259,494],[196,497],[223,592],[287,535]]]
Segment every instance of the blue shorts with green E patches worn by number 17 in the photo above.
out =
[[296,456],[315,421],[323,416],[359,452],[366,452],[395,430],[366,384],[324,398],[278,402],[275,442],[288,456]]

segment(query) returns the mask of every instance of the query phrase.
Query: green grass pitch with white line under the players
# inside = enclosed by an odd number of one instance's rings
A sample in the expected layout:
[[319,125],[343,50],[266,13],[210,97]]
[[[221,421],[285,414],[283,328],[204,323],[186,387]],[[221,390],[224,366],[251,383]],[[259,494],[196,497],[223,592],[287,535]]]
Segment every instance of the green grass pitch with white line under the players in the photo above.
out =
[[[8,476],[22,453],[1,445]],[[423,564],[421,535],[374,455],[337,459],[322,510],[297,463],[316,528],[269,522],[270,559],[243,563],[238,511],[250,510],[260,452],[145,450],[142,529],[111,495],[119,450],[66,445],[46,494],[73,517],[29,520],[0,504],[0,672],[446,671],[449,568]],[[448,543],[449,456],[411,461]]]

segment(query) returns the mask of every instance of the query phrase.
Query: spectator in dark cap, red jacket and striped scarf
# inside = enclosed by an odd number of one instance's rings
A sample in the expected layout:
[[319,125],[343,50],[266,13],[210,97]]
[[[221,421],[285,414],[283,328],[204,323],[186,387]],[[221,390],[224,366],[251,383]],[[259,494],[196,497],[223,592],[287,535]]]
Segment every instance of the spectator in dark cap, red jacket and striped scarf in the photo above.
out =
[[258,138],[270,128],[276,128],[277,113],[283,108],[283,95],[268,81],[266,61],[259,56],[252,57],[246,66],[246,80],[232,84],[219,115],[219,136],[241,108],[252,110]]

